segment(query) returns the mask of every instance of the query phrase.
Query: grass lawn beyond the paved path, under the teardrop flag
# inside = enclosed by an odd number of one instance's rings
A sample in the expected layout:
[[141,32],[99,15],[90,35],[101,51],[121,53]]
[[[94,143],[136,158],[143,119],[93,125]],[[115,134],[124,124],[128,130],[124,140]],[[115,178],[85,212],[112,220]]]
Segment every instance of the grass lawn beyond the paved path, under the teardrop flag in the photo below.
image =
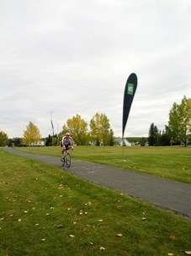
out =
[[[60,147],[18,148],[42,155],[61,155]],[[135,172],[191,183],[191,147],[77,146],[73,159],[93,161]]]

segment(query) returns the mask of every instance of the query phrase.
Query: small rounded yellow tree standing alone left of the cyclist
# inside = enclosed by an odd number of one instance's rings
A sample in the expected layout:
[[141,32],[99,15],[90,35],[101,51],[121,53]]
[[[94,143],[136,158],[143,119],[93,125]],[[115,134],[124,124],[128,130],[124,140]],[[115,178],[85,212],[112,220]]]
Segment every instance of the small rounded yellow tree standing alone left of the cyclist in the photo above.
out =
[[29,122],[27,129],[24,131],[23,142],[30,145],[40,141],[40,131],[32,122]]

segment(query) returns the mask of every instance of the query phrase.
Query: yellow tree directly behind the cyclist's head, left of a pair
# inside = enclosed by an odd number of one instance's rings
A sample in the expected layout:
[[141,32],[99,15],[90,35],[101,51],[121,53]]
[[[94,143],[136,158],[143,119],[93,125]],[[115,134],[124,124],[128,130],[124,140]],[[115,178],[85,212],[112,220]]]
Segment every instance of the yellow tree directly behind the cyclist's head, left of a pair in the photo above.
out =
[[88,143],[88,123],[86,123],[80,115],[68,119],[67,126],[63,126],[63,134],[67,131],[72,134],[75,144],[84,145]]

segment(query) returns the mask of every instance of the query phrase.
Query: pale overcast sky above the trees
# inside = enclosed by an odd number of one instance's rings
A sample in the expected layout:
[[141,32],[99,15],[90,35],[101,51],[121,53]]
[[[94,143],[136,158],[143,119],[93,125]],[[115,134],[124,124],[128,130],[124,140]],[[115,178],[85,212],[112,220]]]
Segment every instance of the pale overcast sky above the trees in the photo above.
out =
[[164,129],[191,97],[190,0],[0,0],[0,130],[42,137],[77,114],[122,133],[126,79],[138,77],[125,137]]

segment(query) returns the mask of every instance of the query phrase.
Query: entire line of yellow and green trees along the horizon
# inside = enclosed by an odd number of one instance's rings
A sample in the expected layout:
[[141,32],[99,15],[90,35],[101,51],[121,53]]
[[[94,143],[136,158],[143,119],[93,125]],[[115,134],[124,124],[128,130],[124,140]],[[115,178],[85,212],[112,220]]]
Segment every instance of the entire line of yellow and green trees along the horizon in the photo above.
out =
[[[59,134],[48,135],[45,145],[58,145],[66,132],[72,133],[76,144],[86,145],[114,145],[114,132],[110,128],[109,118],[103,113],[96,113],[88,123],[80,115],[66,121]],[[6,144],[29,145],[41,140],[40,130],[34,123],[29,123],[22,139],[8,139],[8,135],[0,130],[0,146]],[[182,143],[187,146],[191,142],[191,99],[183,96],[180,104],[174,102],[169,112],[169,121],[164,130],[158,130],[157,125],[151,123],[148,138],[141,139],[141,145],[157,146]]]

